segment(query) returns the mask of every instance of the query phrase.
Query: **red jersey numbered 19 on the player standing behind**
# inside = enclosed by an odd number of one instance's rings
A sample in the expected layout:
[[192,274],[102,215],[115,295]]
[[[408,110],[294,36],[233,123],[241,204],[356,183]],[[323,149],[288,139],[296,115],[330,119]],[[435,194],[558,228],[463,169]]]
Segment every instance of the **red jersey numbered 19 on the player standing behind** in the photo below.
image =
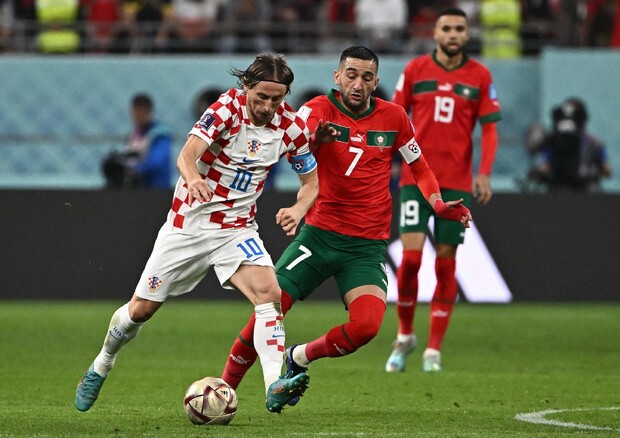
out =
[[[392,101],[411,113],[416,138],[439,187],[471,192],[476,120],[501,120],[489,70],[467,56],[457,68],[446,70],[435,52],[423,55],[407,64]],[[406,166],[400,184],[415,184]]]

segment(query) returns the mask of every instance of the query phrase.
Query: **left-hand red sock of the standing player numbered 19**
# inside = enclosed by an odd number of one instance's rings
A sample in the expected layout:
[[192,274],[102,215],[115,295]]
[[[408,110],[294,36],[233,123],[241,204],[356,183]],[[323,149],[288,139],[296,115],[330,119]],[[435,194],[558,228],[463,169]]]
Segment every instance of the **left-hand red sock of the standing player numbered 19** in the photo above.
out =
[[413,333],[413,318],[418,301],[418,271],[422,265],[422,251],[404,250],[403,260],[398,268],[398,333]]

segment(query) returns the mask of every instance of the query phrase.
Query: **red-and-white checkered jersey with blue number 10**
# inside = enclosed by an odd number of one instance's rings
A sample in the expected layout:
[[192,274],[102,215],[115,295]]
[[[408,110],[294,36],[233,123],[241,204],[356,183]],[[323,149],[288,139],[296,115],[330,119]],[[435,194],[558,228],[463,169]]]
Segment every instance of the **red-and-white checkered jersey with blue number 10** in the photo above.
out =
[[[194,201],[190,205],[185,180],[180,177],[177,181],[168,223],[188,234],[255,226],[256,200],[269,171],[285,154],[293,158],[297,173],[316,167],[308,147],[310,133],[293,108],[282,102],[270,123],[254,126],[248,117],[243,90],[233,88],[222,94],[188,135],[196,135],[209,144],[196,165],[213,191],[211,201]],[[304,157],[306,161],[300,164],[295,157]]]

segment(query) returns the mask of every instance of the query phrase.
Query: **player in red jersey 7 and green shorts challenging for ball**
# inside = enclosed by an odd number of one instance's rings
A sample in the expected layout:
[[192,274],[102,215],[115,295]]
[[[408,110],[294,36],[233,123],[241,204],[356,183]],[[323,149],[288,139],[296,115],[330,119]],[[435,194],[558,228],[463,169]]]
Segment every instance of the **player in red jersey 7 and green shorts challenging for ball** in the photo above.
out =
[[[462,200],[442,201],[439,186],[399,105],[371,97],[379,82],[377,56],[365,47],[346,49],[334,82],[339,91],[318,96],[298,114],[306,120],[317,160],[319,195],[305,224],[276,264],[282,311],[307,298],[334,277],[349,321],[307,344],[286,350],[287,376],[306,371],[310,362],[340,357],[373,339],[385,314],[385,251],[390,236],[390,171],[395,154],[410,166],[436,213],[468,226]],[[321,128],[330,127],[328,133]],[[254,316],[233,345],[222,378],[233,388],[256,359]],[[297,398],[298,400],[298,398]],[[296,402],[296,400],[294,401]],[[293,403],[289,403],[293,404]]]

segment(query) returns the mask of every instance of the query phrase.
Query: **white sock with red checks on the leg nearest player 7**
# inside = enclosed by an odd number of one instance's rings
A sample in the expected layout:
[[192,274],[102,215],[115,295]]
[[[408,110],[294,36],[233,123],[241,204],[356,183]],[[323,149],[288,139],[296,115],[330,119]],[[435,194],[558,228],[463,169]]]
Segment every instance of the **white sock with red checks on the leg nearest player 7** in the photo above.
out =
[[266,392],[282,372],[285,341],[283,316],[280,303],[259,304],[254,307],[254,312],[254,348],[263,368]]

